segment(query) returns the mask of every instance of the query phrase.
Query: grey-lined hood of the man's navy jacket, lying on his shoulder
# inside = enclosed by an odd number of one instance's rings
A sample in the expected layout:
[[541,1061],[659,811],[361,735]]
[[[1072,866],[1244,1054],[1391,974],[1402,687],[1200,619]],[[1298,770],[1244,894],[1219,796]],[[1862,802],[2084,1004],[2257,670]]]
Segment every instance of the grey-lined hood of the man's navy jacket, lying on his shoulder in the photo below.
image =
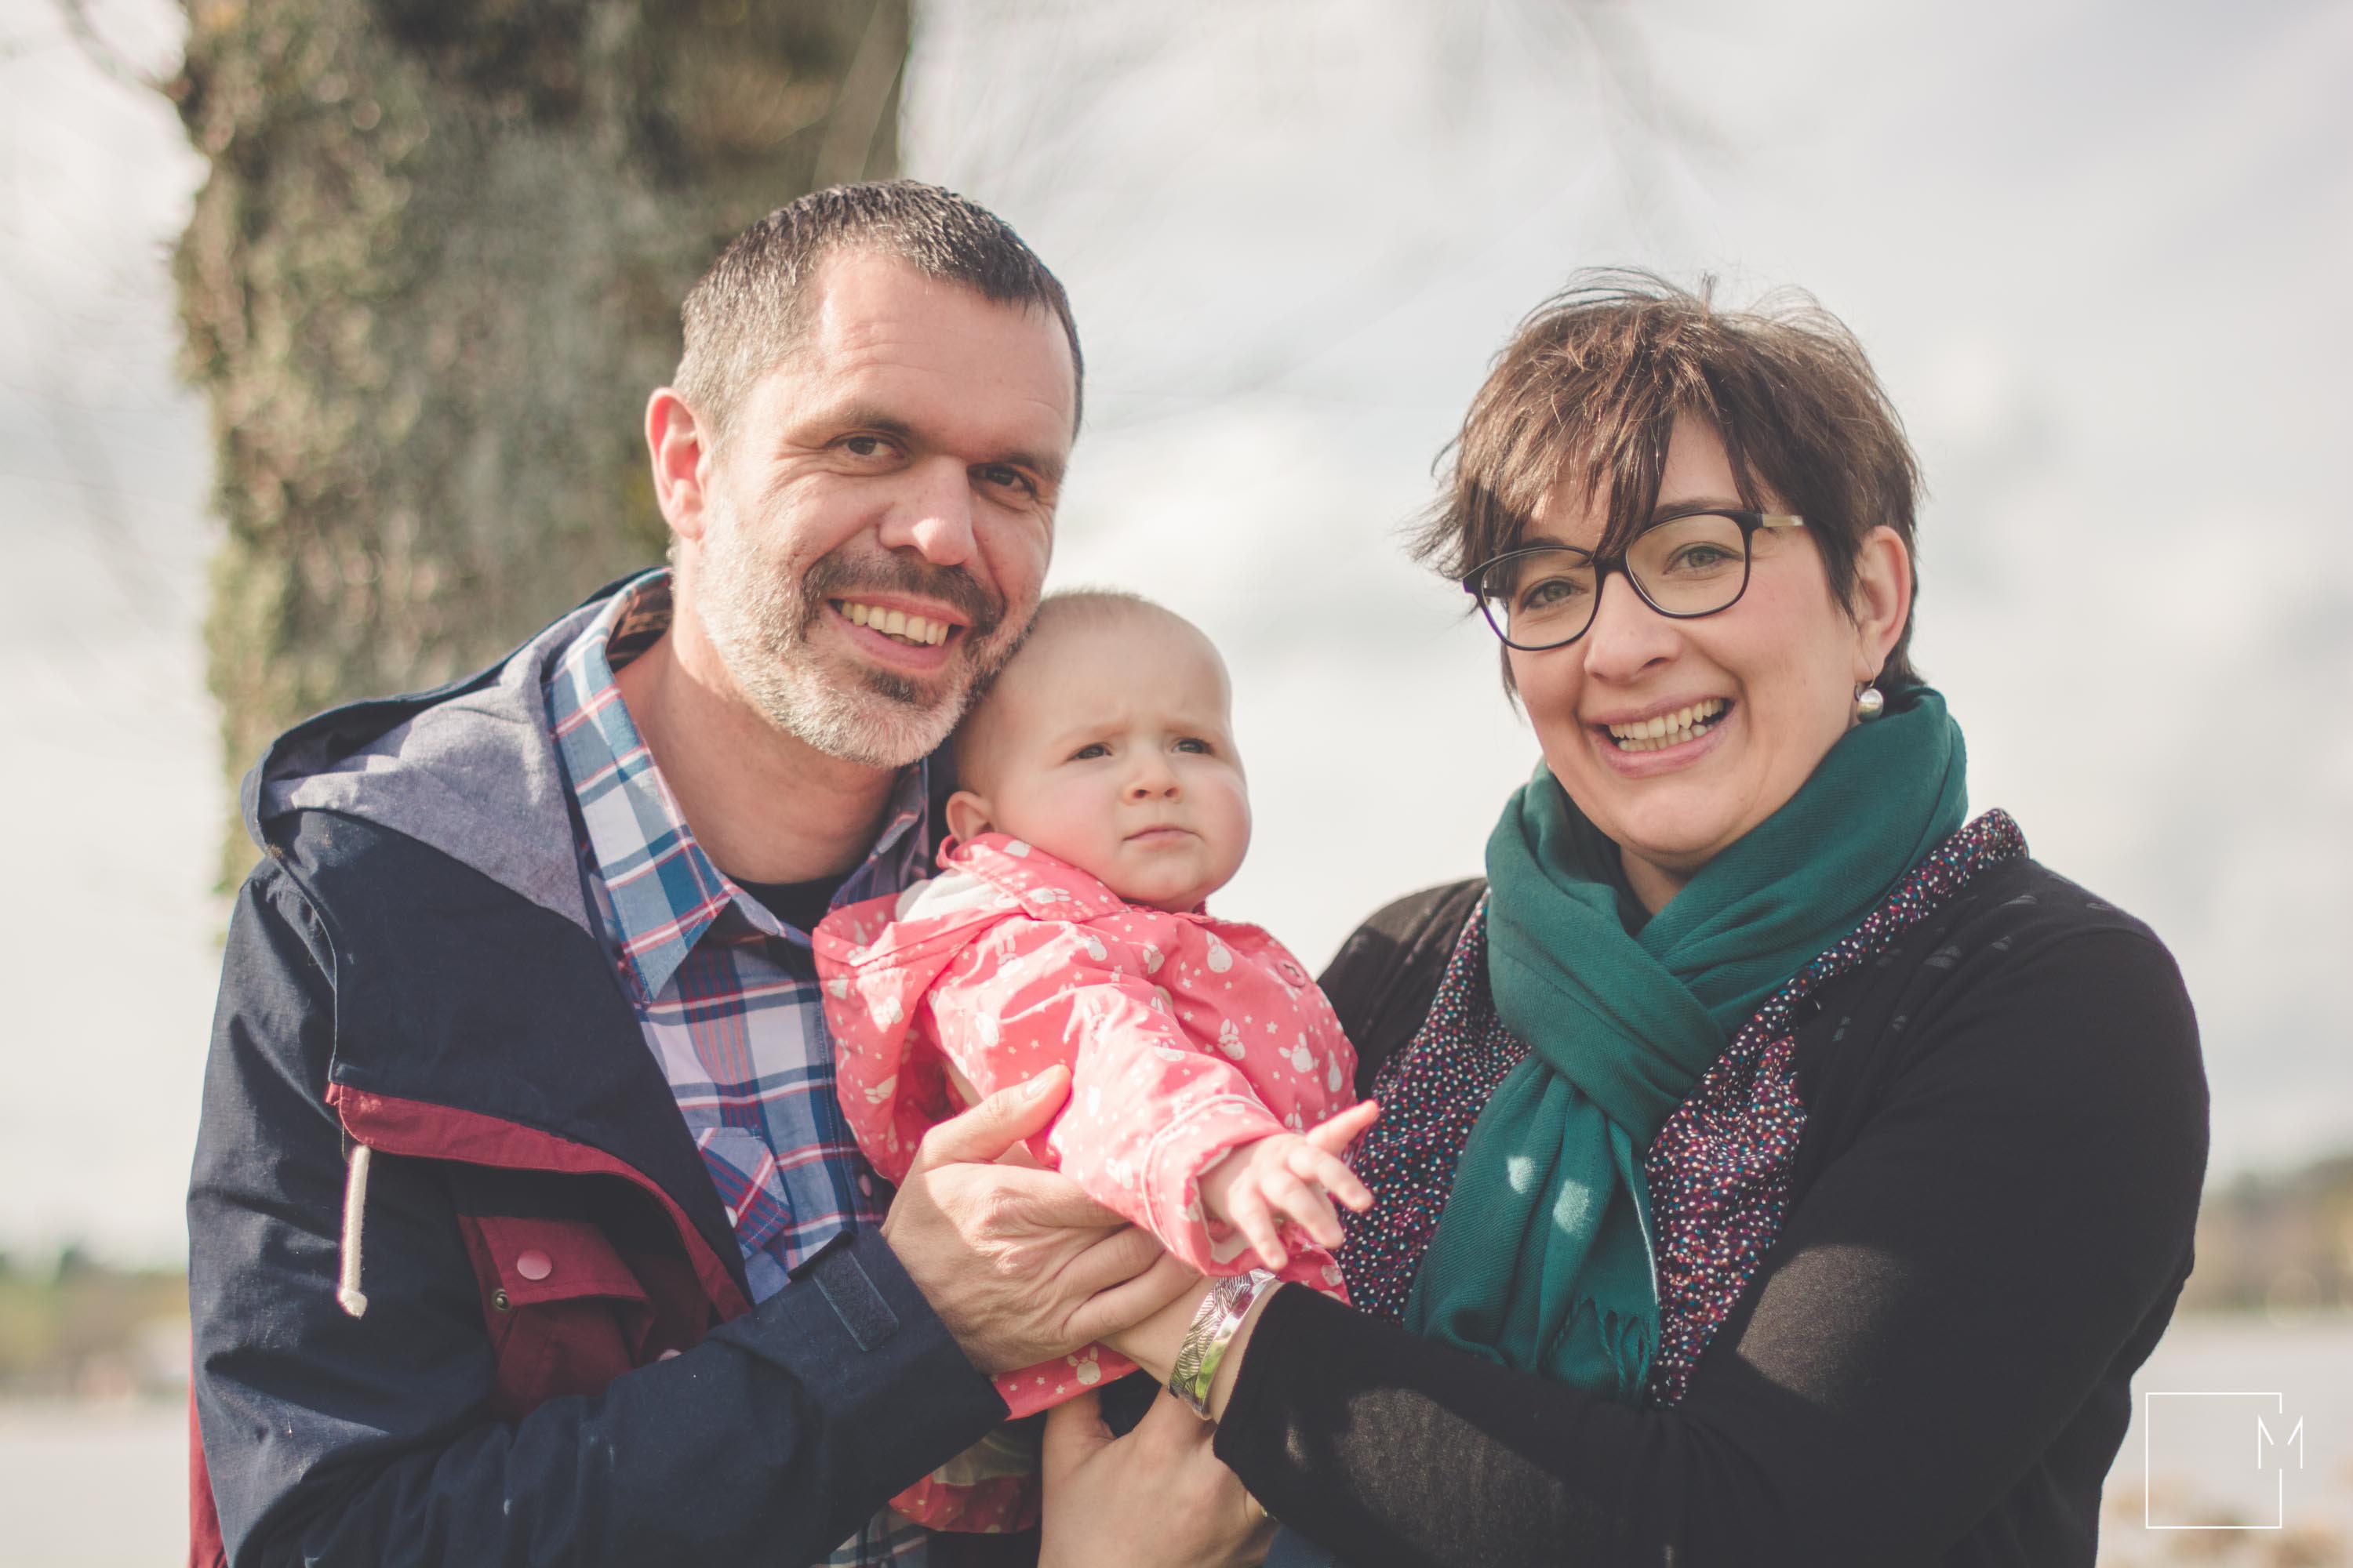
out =
[[245,830],[266,853],[285,853],[296,813],[334,811],[428,844],[593,929],[546,679],[638,581],[607,583],[478,675],[329,708],[285,731],[245,776]]

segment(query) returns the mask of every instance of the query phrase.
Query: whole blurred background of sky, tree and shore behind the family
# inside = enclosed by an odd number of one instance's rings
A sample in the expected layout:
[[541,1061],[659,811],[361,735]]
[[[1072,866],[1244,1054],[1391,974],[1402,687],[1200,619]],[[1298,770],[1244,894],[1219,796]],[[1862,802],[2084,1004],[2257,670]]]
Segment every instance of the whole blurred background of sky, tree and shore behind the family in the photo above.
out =
[[1398,545],[1513,322],[1595,263],[1845,317],[1927,468],[1972,804],[2198,1001],[2212,1187],[2141,1387],[2308,1427],[2287,1528],[2231,1533],[2144,1521],[2273,1479],[2144,1486],[2137,1432],[2101,1561],[2353,1561],[2348,80],[2344,0],[0,0],[0,1556],[179,1552],[233,778],[654,559],[678,296],[896,172],[1071,287],[1054,578],[1224,646],[1221,910],[1311,961],[1478,870],[1534,762]]

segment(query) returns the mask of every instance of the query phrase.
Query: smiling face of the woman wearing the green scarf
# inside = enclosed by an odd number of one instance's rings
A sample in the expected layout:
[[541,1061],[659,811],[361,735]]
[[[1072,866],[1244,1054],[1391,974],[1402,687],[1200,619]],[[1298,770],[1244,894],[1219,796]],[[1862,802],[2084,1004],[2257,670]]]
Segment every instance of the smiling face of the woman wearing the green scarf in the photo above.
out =
[[[1725,444],[1675,421],[1659,510],[1739,508]],[[1772,505],[1772,498],[1767,498]],[[1607,512],[1574,480],[1537,503],[1527,543],[1595,548]],[[1562,649],[1511,649],[1511,672],[1553,778],[1626,856],[1635,896],[1659,910],[1725,846],[1812,776],[1854,722],[1854,689],[1878,675],[1911,609],[1911,564],[1892,529],[1857,562],[1857,607],[1831,595],[1805,529],[1760,529],[1739,604],[1671,621],[1624,571],[1602,578],[1591,630]],[[1720,705],[1689,738],[1628,748],[1612,726]],[[1647,750],[1657,745],[1657,750]]]

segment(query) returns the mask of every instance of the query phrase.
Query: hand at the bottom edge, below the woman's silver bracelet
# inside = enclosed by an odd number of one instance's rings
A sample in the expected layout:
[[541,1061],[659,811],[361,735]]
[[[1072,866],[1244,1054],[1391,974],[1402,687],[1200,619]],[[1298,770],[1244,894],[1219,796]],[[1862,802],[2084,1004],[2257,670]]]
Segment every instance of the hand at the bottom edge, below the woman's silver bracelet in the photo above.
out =
[[1038,1568],[1261,1563],[1275,1523],[1209,1453],[1214,1434],[1167,1392],[1127,1436],[1092,1392],[1047,1410]]

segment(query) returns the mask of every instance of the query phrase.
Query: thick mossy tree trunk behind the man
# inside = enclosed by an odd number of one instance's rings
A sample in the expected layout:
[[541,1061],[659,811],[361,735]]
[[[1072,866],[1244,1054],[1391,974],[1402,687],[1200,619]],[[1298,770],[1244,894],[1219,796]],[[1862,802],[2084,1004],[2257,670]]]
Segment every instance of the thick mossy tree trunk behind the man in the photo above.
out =
[[760,214],[892,169],[908,2],[188,0],[233,778],[659,559],[640,425],[678,301]]

